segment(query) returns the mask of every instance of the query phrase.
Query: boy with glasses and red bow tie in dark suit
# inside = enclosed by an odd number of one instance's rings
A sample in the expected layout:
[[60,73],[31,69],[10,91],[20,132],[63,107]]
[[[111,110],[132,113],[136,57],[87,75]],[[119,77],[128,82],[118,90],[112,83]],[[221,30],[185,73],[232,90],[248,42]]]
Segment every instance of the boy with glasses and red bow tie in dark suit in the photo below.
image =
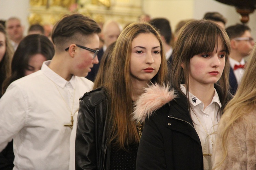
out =
[[229,84],[230,92],[234,95],[244,73],[244,57],[251,53],[255,42],[251,35],[251,29],[246,25],[229,26],[226,31],[231,44]]

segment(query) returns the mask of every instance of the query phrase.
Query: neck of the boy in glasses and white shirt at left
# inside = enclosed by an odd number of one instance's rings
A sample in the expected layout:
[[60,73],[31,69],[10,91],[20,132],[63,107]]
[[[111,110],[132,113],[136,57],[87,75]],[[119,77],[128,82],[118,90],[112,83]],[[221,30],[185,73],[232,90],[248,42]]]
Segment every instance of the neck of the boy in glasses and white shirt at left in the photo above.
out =
[[54,71],[60,77],[69,81],[72,77],[72,74],[69,73],[67,61],[65,61],[63,57],[65,56],[54,56],[48,67],[51,68],[52,71]]

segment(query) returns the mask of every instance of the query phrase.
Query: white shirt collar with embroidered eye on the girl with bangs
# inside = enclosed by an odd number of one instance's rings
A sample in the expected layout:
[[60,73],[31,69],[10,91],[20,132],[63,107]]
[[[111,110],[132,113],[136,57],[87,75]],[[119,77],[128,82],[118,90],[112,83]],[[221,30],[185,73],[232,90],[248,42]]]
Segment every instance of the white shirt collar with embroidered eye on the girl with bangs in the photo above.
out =
[[[181,90],[182,92],[186,95],[186,88],[181,84]],[[192,93],[189,92],[189,102],[191,105],[193,106],[197,106],[199,105],[200,103],[202,103],[202,101],[200,101],[196,96],[194,96]],[[219,107],[222,107],[221,105],[221,102],[219,101],[219,95],[216,91],[216,89],[214,88],[214,96],[212,98],[212,102],[210,103],[210,105],[213,103],[213,102],[216,102]],[[203,103],[202,103],[203,104]]]

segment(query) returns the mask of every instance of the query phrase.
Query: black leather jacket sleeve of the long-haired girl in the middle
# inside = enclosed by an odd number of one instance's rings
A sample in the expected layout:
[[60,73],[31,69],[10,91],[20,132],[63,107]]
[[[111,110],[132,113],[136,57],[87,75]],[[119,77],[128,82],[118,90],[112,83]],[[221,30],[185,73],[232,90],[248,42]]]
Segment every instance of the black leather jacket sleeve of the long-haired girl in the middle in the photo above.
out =
[[95,114],[93,107],[80,100],[77,115],[77,129],[75,140],[75,169],[97,169]]

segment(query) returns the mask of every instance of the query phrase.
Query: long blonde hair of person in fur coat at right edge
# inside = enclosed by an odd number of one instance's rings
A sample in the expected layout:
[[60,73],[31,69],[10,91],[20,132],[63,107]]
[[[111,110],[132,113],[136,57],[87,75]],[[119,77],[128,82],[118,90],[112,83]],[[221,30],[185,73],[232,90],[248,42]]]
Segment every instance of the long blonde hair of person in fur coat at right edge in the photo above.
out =
[[215,168],[221,166],[227,156],[228,136],[233,126],[233,122],[246,113],[256,110],[256,46],[246,63],[244,76],[238,87],[236,95],[227,104],[225,112],[219,125],[225,125],[222,129],[218,128],[215,143],[221,147],[221,155],[218,155]]

